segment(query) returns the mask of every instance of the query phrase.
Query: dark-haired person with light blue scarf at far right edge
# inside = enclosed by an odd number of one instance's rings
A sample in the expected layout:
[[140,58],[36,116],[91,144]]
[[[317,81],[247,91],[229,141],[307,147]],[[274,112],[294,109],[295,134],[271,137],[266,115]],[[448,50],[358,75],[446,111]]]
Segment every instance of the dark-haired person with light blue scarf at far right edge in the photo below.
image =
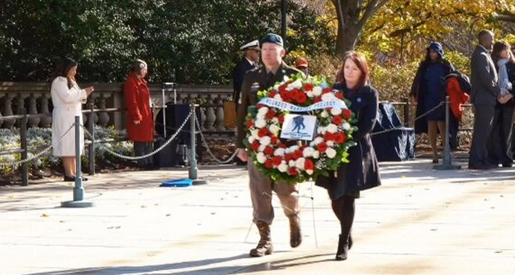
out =
[[488,142],[488,162],[503,167],[513,166],[512,132],[515,115],[515,58],[510,50],[510,44],[496,42],[492,51],[492,61],[497,69],[499,79],[497,85],[501,88],[504,99],[497,101],[494,109],[492,133]]

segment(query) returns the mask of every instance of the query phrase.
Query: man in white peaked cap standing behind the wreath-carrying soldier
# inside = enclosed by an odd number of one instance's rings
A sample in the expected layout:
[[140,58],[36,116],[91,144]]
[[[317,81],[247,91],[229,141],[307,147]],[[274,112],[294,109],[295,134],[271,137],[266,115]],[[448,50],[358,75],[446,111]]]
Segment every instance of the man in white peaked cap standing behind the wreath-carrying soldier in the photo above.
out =
[[[244,56],[236,65],[233,71],[233,100],[238,104],[240,101],[240,93],[242,91],[243,77],[249,70],[258,67],[260,61],[260,43],[255,40],[240,47]],[[238,106],[238,105],[237,105]]]

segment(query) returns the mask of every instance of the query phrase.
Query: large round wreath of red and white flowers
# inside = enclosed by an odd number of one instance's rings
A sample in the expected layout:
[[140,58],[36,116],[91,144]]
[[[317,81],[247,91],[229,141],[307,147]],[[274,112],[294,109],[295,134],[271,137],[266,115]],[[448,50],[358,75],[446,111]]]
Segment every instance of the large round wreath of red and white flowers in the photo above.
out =
[[[282,83],[258,91],[258,98],[260,102],[249,108],[244,142],[250,157],[265,175],[275,181],[302,182],[316,179],[318,175],[328,176],[342,162],[349,162],[347,150],[356,145],[352,140],[352,133],[357,130],[356,118],[346,107],[349,100],[343,97],[342,91],[333,89],[326,78],[301,74],[285,77]],[[308,107],[303,110],[308,109],[307,113],[317,117],[313,140],[299,142],[279,138],[285,115],[292,112],[276,107],[277,102],[300,107],[297,109]],[[339,103],[332,104],[335,107],[312,108],[335,102]]]

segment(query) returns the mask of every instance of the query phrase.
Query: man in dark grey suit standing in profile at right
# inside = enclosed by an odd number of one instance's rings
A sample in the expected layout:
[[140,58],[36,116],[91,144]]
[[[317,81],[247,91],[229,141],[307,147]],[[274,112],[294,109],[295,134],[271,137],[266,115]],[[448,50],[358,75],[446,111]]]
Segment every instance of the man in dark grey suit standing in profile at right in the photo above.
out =
[[474,107],[474,133],[468,159],[469,169],[490,169],[487,142],[492,131],[494,108],[501,99],[501,89],[497,85],[497,72],[490,51],[494,45],[494,33],[483,30],[479,33],[479,45],[470,58],[470,102]]

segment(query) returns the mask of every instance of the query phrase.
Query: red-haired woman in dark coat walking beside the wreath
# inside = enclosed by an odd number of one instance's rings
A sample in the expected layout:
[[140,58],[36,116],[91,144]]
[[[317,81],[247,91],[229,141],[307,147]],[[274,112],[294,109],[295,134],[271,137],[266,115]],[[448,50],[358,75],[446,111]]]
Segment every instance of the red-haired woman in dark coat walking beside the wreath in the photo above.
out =
[[335,89],[342,89],[349,109],[356,114],[358,131],[353,134],[356,146],[349,148],[349,164],[341,164],[336,173],[329,177],[319,176],[315,184],[326,188],[331,199],[332,210],[341,225],[336,261],[347,259],[352,246],[350,231],[354,223],[354,200],[360,191],[380,186],[379,166],[370,139],[378,112],[376,89],[368,84],[369,70],[365,56],[347,52],[345,63],[339,72],[341,83]]

